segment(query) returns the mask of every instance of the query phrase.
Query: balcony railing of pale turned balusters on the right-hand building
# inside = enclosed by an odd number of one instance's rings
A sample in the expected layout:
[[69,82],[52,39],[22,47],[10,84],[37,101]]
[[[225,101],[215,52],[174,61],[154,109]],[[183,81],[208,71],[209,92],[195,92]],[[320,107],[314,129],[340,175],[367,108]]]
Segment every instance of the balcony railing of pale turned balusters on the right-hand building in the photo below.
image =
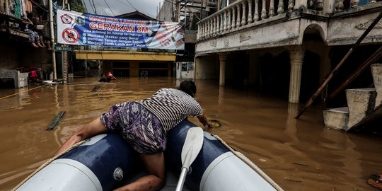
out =
[[[376,0],[333,0],[334,8],[324,10],[323,0],[300,1],[299,6],[323,13],[344,11],[365,4],[373,4]],[[325,1],[325,3],[330,1]],[[305,5],[304,5],[305,4]],[[238,0],[222,8],[211,16],[204,18],[197,25],[197,40],[216,37],[225,33],[271,22],[286,17],[286,12],[296,9],[295,0]]]

